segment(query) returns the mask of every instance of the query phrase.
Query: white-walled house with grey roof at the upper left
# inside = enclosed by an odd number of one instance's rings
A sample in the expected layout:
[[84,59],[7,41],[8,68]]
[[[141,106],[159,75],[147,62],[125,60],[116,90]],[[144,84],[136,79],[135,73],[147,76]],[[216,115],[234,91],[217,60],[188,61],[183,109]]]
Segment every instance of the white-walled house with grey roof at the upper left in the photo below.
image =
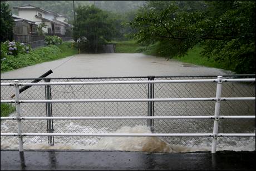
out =
[[63,14],[52,12],[47,9],[32,6],[30,4],[13,7],[18,9],[18,17],[27,19],[28,21],[35,22],[35,24],[45,23],[46,28],[43,28],[43,32],[50,35],[62,35],[64,36],[68,27],[67,17]]

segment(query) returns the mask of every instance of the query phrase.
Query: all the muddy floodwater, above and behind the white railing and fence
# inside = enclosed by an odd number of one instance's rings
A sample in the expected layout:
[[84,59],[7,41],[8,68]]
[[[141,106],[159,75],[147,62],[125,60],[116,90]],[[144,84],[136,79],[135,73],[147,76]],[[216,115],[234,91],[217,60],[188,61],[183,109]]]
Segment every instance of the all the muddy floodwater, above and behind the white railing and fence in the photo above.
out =
[[[144,54],[81,54],[1,74],[1,78],[38,77],[53,69],[51,77],[223,75],[225,71],[199,67]],[[63,80],[62,80],[63,81]],[[65,79],[64,81],[83,81]],[[86,80],[88,81],[88,80]],[[104,80],[100,80],[104,81]],[[26,81],[30,82],[30,81]],[[213,83],[155,84],[155,98],[214,97]],[[52,99],[147,98],[147,85],[52,86]],[[245,93],[240,90],[245,89]],[[13,87],[1,87],[9,99]],[[255,84],[226,84],[223,97],[255,96]],[[31,87],[21,99],[44,99],[45,87]],[[213,115],[214,102],[155,102],[155,115]],[[147,103],[52,104],[53,116],[146,116]],[[221,102],[223,115],[253,115],[253,102]],[[23,116],[45,116],[43,103],[21,104]],[[14,116],[12,114],[11,116]],[[46,133],[45,120],[23,120],[23,132]],[[150,133],[146,120],[54,120],[55,133]],[[239,124],[239,126],[237,126]],[[213,120],[154,120],[155,133],[212,133]],[[221,133],[255,133],[255,120],[220,120]],[[16,120],[1,121],[1,132],[17,132]],[[102,149],[142,152],[192,152],[210,150],[210,137],[23,137],[27,149]],[[2,148],[17,148],[16,137],[1,137]],[[218,138],[217,150],[255,150],[255,138]]]

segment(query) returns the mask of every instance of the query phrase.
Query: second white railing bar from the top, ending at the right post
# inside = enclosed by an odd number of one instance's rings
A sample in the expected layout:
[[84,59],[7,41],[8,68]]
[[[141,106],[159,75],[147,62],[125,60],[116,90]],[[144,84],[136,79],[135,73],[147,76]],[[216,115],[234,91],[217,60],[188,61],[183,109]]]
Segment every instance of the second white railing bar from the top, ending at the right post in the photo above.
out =
[[[175,101],[213,101],[216,98],[154,98],[154,99],[55,99],[19,100],[19,103],[70,103],[70,102],[175,102]],[[1,103],[15,103],[15,100],[1,100]]]

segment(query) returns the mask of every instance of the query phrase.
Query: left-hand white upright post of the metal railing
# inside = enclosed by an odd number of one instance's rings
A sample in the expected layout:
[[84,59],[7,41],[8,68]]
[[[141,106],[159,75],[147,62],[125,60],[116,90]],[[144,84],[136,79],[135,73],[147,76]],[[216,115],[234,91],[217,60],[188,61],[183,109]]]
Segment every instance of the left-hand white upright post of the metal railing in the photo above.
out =
[[15,88],[15,105],[17,113],[17,123],[18,123],[18,138],[19,138],[19,152],[23,152],[23,140],[22,140],[22,123],[21,123],[21,104],[19,102],[19,86],[18,80],[14,81]]

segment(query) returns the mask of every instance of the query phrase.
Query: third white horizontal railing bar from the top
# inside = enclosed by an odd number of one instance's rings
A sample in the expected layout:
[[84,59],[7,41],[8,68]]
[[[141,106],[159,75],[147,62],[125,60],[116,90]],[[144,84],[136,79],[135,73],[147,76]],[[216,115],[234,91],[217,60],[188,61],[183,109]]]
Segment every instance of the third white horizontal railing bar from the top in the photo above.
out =
[[[82,120],[82,119],[214,119],[213,116],[155,116],[155,117],[1,117],[2,120],[42,120],[42,119],[59,119],[59,120]],[[255,119],[255,115],[232,115],[219,116],[219,119]]]

